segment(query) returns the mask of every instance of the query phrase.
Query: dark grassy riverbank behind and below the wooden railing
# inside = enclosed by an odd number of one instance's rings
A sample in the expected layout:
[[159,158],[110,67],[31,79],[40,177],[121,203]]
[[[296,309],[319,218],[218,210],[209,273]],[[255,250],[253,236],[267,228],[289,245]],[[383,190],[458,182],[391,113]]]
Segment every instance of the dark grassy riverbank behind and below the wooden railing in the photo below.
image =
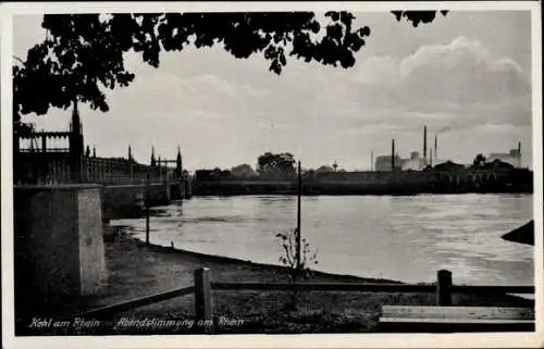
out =
[[[228,248],[228,247],[225,247]],[[209,267],[215,282],[285,282],[286,270],[281,266],[257,264],[230,258],[213,257],[172,249],[146,246],[124,229],[106,242],[108,279],[102,291],[86,299],[81,310],[148,296],[193,285],[197,267]],[[398,283],[387,279],[362,278],[312,272],[309,282],[338,283]],[[400,284],[400,283],[399,283]],[[289,333],[368,333],[375,329],[380,310],[385,304],[433,306],[434,294],[341,292],[307,291],[297,296],[297,310],[289,308],[290,294],[282,291],[214,291],[214,312],[228,320],[220,328],[228,334],[289,334]],[[454,295],[458,306],[531,307],[533,301],[512,297],[481,297]],[[112,324],[125,320],[190,320],[194,316],[194,295],[174,298],[101,319],[103,326],[82,328],[88,335],[186,334],[187,327],[149,328]],[[51,333],[54,335],[54,332]]]

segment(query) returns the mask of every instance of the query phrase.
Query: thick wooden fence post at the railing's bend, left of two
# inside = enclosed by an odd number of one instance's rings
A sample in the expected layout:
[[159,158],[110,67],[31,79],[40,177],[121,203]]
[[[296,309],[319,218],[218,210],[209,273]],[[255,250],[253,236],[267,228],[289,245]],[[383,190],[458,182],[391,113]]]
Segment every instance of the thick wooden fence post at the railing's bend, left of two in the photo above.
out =
[[210,283],[211,271],[208,267],[195,270],[195,314],[197,326],[202,326],[208,334],[214,334]]

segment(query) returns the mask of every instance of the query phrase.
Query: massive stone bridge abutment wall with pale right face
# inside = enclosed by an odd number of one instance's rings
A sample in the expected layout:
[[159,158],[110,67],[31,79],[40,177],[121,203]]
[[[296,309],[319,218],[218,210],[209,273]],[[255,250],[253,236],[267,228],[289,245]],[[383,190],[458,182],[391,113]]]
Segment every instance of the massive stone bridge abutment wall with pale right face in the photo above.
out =
[[106,276],[100,187],[14,188],[15,301],[59,301],[97,290]]

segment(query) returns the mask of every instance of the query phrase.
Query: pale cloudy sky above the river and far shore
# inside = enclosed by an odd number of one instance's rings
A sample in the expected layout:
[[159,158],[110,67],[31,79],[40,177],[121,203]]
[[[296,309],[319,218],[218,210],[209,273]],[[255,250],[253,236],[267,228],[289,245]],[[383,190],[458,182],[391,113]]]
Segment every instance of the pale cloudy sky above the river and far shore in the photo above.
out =
[[[263,152],[292,152],[304,167],[370,170],[391,140],[408,158],[438,138],[438,159],[471,163],[478,153],[531,152],[531,16],[529,11],[454,11],[413,28],[388,12],[354,13],[371,35],[354,67],[290,59],[282,75],[260,55],[239,60],[221,46],[162,53],[153,68],[126,55],[136,74],[107,94],[110,111],[81,105],[85,144],[100,157],[175,159],[189,170],[252,166]],[[41,16],[13,18],[20,58],[45,38]],[[24,120],[67,129],[71,111]]]

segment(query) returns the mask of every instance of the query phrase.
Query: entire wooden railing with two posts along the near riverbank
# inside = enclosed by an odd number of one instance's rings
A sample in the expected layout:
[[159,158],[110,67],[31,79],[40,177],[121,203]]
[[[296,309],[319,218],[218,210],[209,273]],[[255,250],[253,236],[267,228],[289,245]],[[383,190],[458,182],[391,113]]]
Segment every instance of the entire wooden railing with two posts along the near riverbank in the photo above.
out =
[[454,292],[473,295],[534,294],[534,286],[468,286],[453,285],[452,272],[437,272],[436,284],[370,284],[370,283],[215,283],[207,267],[195,270],[195,284],[125,302],[94,309],[75,317],[111,316],[115,313],[133,310],[176,297],[195,294],[195,317],[197,322],[211,324],[205,326],[208,334],[217,334],[218,319],[213,315],[212,291],[269,290],[269,291],[356,291],[356,292],[434,292],[437,306],[450,306]]

